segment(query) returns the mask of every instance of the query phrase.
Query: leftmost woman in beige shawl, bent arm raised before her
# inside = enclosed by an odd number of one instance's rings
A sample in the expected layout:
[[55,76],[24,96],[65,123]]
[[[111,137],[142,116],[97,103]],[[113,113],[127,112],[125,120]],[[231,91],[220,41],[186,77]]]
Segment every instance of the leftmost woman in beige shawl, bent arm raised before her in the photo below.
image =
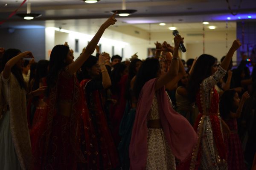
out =
[[32,165],[26,85],[22,77],[23,58],[33,58],[33,55],[29,51],[21,53],[18,49],[8,49],[3,54],[0,75],[1,170],[29,170]]

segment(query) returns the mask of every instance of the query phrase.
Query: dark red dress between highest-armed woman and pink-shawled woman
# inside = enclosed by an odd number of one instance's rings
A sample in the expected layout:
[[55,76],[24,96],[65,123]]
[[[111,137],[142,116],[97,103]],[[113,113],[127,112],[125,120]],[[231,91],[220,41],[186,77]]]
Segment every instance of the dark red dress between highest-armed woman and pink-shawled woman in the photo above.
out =
[[[80,82],[80,85],[85,96],[85,104],[89,109],[90,124],[92,124],[92,128],[95,130],[93,133],[95,141],[92,145],[98,146],[99,149],[96,153],[96,156],[99,156],[99,161],[94,164],[98,164],[100,169],[104,170],[116,168],[119,165],[118,153],[103,109],[102,95],[99,90],[86,91],[88,82],[90,82],[90,79],[85,79]],[[91,154],[93,156],[95,153]]]

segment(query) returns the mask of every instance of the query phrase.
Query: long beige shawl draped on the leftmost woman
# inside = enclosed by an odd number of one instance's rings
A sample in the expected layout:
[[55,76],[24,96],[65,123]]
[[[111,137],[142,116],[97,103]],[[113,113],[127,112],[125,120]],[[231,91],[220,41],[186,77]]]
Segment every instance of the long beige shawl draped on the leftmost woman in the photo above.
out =
[[[3,74],[3,72],[1,74]],[[2,92],[3,79],[2,76],[0,76],[0,111],[3,111],[5,107]],[[11,114],[10,128],[15,151],[17,153],[21,169],[29,170],[32,165],[32,151],[27,122],[26,91],[20,88],[17,79],[12,73],[10,75],[9,106]]]

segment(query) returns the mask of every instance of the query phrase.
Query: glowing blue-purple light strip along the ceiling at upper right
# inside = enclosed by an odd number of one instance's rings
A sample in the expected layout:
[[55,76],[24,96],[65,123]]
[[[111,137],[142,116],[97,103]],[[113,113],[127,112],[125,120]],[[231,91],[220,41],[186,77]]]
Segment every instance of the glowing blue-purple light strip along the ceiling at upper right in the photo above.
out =
[[219,15],[216,17],[212,17],[212,20],[250,20],[256,19],[256,14],[237,14],[233,16],[231,14]]

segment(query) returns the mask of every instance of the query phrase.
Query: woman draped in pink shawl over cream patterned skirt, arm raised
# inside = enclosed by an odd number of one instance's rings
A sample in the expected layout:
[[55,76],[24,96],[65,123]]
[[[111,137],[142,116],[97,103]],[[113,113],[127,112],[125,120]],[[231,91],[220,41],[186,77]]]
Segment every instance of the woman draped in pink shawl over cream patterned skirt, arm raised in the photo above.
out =
[[160,76],[158,59],[148,59],[136,76],[138,105],[129,148],[131,170],[175,170],[175,157],[184,160],[197,139],[186,118],[172,109],[165,91],[165,85],[179,72],[185,74],[178,57],[183,39],[177,35],[174,40],[174,54],[166,74]]

